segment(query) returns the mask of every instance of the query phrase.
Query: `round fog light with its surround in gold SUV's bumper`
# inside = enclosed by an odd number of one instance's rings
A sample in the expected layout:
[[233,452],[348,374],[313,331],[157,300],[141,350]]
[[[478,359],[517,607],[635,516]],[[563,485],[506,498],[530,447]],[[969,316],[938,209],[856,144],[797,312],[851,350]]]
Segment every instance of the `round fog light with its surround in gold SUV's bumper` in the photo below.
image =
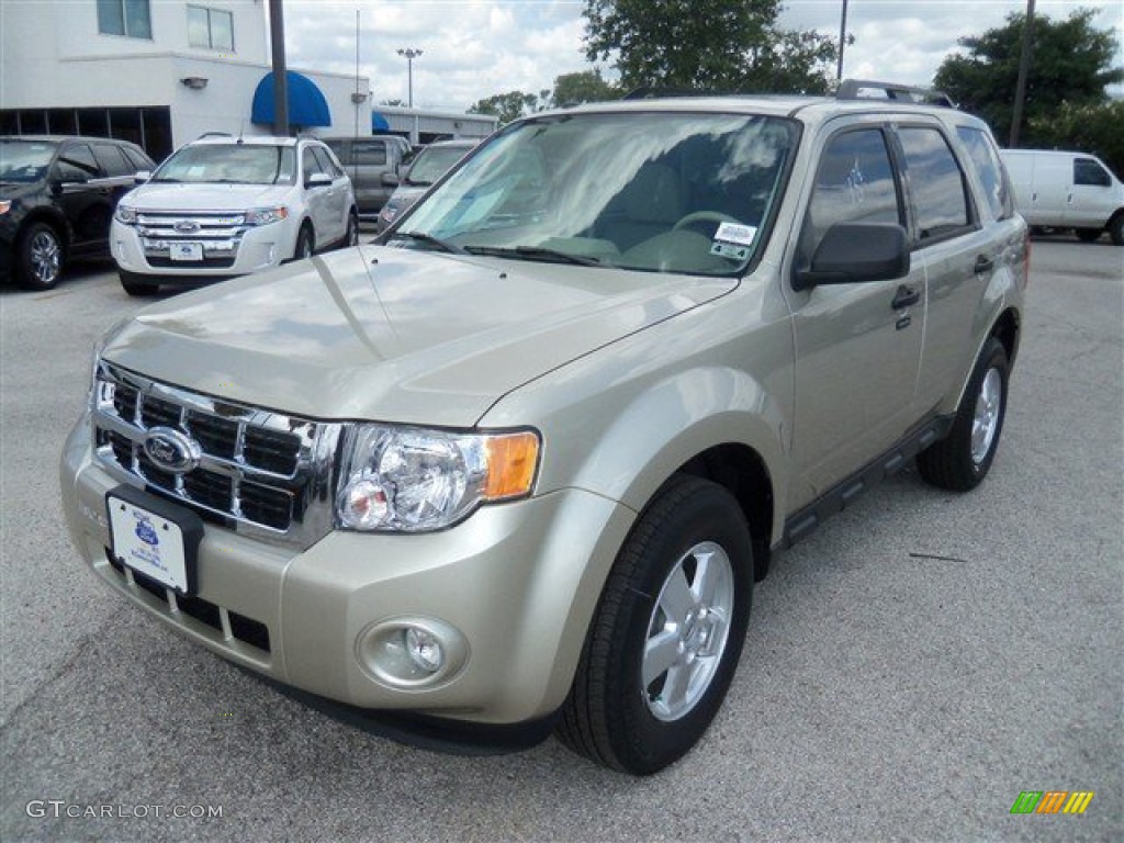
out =
[[469,644],[444,620],[398,617],[364,629],[355,641],[355,655],[382,685],[422,690],[455,677],[469,660]]

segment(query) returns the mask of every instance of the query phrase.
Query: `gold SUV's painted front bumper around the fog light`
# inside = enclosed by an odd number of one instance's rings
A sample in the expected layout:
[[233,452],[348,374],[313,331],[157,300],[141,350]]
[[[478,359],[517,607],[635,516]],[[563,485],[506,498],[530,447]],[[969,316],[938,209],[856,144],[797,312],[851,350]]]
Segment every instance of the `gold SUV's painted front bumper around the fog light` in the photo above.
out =
[[[481,724],[550,716],[565,699],[605,578],[632,525],[626,507],[570,489],[483,507],[424,535],[333,532],[302,552],[208,524],[199,591],[169,599],[108,559],[106,492],[89,419],[61,466],[71,536],[93,572],[180,634],[303,691],[364,709]],[[373,631],[409,620],[456,631],[463,664],[392,687]]]

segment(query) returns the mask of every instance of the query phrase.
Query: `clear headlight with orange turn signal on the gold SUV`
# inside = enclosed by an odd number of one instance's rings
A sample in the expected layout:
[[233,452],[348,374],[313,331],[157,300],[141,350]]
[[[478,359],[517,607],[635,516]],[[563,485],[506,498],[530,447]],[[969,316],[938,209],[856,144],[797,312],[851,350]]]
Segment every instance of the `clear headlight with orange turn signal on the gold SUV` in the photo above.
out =
[[360,425],[336,496],[347,529],[422,533],[456,524],[481,504],[531,493],[538,434],[451,433]]

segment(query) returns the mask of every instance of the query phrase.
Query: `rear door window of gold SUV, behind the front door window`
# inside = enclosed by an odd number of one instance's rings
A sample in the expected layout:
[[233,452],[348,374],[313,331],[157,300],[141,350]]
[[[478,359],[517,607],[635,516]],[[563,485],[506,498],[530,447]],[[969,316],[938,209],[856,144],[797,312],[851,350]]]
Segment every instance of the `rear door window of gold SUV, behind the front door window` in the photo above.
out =
[[909,191],[917,219],[917,237],[925,242],[971,224],[960,165],[937,129],[900,129]]

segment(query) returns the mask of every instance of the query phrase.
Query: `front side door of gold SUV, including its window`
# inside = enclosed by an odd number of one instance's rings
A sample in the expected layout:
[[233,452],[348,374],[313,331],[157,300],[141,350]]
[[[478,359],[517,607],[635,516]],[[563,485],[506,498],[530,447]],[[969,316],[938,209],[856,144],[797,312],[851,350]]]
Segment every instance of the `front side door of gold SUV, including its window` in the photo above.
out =
[[[823,145],[799,235],[808,265],[835,223],[906,225],[889,129],[867,119]],[[900,438],[909,423],[924,336],[924,270],[906,278],[791,292],[796,337],[792,454],[823,493]],[[799,506],[806,501],[794,501]]]

